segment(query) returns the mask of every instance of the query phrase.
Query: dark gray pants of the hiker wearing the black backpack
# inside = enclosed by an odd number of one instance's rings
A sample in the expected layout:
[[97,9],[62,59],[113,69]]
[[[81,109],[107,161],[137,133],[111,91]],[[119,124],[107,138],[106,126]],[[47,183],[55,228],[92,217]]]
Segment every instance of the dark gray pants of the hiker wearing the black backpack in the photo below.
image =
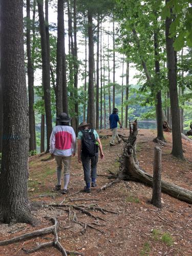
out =
[[91,178],[97,178],[98,155],[99,154],[96,153],[95,157],[85,157],[81,153],[81,161],[82,161],[82,167],[84,172],[84,181],[86,181],[86,183],[91,182]]

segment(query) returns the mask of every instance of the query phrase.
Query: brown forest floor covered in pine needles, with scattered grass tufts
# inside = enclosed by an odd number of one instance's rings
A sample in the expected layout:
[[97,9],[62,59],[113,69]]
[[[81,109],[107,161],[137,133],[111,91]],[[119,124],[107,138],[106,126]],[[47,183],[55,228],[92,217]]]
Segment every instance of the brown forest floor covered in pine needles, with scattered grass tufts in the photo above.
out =
[[[119,134],[128,136],[129,130],[121,129]],[[111,135],[110,130],[102,130],[99,135]],[[154,130],[140,130],[137,139],[137,158],[146,172],[153,174],[153,138]],[[98,163],[98,188],[108,179],[108,170],[116,172],[119,168],[118,155],[121,155],[123,142],[110,147],[111,137],[101,139],[104,159]],[[162,179],[191,190],[192,181],[192,144],[183,140],[184,157],[181,161],[170,155],[172,134],[165,133],[167,144],[162,148]],[[42,161],[48,159],[47,161]],[[0,225],[0,240],[10,239],[20,234],[39,228],[51,226],[45,216],[56,217],[59,221],[59,241],[66,250],[78,251],[86,256],[108,255],[192,255],[191,205],[162,194],[162,209],[149,203],[152,188],[144,184],[121,181],[98,193],[97,188],[90,194],[83,193],[84,186],[82,166],[77,156],[72,160],[69,194],[55,193],[56,184],[55,160],[48,155],[33,156],[29,160],[29,197],[32,202],[32,213],[40,224],[32,227],[17,223],[11,226]],[[94,219],[70,207],[54,208],[49,204],[98,205],[111,209],[117,214],[89,210],[93,215],[104,220]],[[86,199],[89,201],[86,201]],[[78,221],[91,224],[99,230],[73,222],[74,212]],[[33,238],[0,247],[0,255],[25,255],[23,247],[29,249],[38,243],[53,240],[53,235]],[[61,255],[55,248],[46,248],[30,255]],[[74,255],[74,254],[71,254]]]

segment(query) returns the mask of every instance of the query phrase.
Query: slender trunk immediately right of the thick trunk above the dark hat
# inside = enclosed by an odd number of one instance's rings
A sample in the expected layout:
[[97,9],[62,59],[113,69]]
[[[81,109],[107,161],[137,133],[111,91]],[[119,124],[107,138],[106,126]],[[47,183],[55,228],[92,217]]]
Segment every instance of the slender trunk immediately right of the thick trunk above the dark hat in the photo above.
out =
[[[64,14],[64,13],[63,13]],[[63,18],[63,53],[62,53],[62,110],[67,113],[68,110],[68,90],[67,90],[67,64],[66,64],[66,46],[65,46],[65,19]]]

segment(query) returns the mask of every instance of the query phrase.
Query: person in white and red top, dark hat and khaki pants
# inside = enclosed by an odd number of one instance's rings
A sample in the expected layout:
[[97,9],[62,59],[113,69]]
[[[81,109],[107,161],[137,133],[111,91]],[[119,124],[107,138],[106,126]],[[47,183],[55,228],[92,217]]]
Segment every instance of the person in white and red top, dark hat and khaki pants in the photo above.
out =
[[[57,117],[59,125],[53,128],[50,138],[50,153],[57,162],[57,185],[56,190],[62,194],[67,194],[68,183],[70,179],[71,157],[75,156],[76,136],[73,128],[70,126],[71,118],[66,113],[61,113]],[[64,188],[61,190],[61,171],[64,166]]]

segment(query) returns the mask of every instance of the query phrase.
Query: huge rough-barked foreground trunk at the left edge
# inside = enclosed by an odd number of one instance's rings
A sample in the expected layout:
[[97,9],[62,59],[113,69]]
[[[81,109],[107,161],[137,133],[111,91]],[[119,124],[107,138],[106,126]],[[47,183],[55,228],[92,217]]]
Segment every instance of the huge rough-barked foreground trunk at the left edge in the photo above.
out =
[[5,223],[32,223],[27,194],[29,119],[22,0],[1,1],[1,34],[4,140],[0,218]]

